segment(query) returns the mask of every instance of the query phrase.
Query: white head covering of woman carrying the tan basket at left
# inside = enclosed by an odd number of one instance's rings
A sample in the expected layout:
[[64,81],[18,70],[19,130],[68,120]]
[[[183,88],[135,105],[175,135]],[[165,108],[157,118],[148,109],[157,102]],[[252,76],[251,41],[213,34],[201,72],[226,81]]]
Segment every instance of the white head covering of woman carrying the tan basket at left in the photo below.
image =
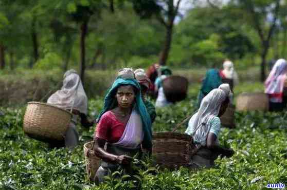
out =
[[47,103],[67,110],[73,107],[73,109],[87,114],[87,96],[75,70],[71,69],[65,72],[61,90],[53,93]]

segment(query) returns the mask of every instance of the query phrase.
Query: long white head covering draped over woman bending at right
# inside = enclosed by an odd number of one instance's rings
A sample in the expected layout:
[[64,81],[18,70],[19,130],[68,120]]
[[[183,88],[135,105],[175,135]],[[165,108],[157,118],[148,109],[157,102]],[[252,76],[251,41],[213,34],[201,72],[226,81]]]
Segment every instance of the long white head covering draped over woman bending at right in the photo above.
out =
[[[221,88],[211,90],[202,100],[200,108],[196,115],[193,128],[193,140],[206,145],[206,138],[211,127],[211,121],[219,114],[221,104],[226,100],[229,94],[232,94],[228,84],[221,85]],[[223,88],[223,89],[222,89]],[[229,91],[228,91],[229,89]]]

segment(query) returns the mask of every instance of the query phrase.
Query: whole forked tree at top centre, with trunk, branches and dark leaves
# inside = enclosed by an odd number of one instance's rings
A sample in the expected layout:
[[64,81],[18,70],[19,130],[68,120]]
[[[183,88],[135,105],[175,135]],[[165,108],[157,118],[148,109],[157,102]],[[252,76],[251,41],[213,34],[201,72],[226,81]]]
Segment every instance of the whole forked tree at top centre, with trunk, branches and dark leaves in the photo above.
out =
[[150,18],[154,15],[160,24],[166,28],[163,48],[159,54],[158,63],[160,65],[165,65],[168,60],[174,19],[178,14],[180,3],[181,0],[178,0],[176,4],[174,0],[133,0],[134,9],[141,18]]

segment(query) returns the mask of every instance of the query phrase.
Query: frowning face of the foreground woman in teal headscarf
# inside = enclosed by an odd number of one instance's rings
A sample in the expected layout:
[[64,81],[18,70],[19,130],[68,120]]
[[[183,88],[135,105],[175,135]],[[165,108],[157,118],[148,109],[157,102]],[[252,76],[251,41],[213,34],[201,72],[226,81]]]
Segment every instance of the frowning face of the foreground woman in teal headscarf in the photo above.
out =
[[116,98],[119,107],[130,108],[135,100],[135,91],[131,85],[120,86]]

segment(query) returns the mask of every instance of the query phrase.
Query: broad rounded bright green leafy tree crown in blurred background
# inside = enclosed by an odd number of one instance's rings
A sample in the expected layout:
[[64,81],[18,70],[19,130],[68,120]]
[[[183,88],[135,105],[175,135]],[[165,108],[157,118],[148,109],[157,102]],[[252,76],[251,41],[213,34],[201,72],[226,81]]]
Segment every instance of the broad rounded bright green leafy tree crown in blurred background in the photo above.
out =
[[[175,26],[172,61],[185,65],[212,65],[229,58],[242,59],[254,53],[255,47],[247,36],[249,31],[236,11],[229,5],[195,6]],[[177,59],[174,60],[175,56]]]

